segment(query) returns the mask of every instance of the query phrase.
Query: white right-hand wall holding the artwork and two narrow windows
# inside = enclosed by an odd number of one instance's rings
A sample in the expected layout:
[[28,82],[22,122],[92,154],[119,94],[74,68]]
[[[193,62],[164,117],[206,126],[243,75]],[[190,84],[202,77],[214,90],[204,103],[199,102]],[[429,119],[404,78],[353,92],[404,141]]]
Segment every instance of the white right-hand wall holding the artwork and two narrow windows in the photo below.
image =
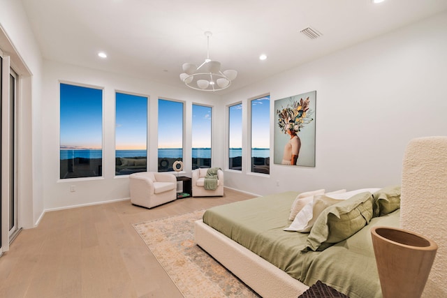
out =
[[[447,135],[446,79],[444,13],[223,96],[226,105],[243,101],[247,124],[247,98],[270,92],[273,111],[274,100],[316,90],[316,167],[271,163],[260,177],[246,164],[225,173],[226,186],[265,195],[400,184],[409,140]],[[271,112],[270,144],[276,118]]]

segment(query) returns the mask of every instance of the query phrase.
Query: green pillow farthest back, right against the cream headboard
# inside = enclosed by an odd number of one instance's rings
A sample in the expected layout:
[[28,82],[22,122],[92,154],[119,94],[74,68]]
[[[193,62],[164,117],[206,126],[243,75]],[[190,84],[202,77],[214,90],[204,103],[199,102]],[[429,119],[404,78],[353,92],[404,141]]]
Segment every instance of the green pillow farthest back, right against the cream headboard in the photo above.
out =
[[374,217],[384,216],[400,208],[400,185],[382,188],[372,196],[374,198]]

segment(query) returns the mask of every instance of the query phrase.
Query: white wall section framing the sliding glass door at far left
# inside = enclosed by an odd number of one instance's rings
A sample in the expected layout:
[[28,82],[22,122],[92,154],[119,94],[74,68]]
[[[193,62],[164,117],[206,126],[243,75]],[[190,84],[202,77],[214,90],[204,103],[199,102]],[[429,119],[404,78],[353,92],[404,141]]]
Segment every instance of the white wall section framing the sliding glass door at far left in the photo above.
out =
[[20,75],[18,167],[20,225],[32,228],[43,212],[41,159],[41,72],[42,58],[21,1],[1,2],[0,38],[4,54]]

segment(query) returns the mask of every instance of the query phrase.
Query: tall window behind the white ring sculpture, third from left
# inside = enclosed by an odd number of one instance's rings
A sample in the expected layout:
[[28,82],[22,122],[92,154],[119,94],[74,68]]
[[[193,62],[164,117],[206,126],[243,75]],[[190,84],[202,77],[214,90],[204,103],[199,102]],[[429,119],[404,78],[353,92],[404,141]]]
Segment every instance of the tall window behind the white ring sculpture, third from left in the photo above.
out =
[[183,161],[183,103],[159,99],[159,172]]

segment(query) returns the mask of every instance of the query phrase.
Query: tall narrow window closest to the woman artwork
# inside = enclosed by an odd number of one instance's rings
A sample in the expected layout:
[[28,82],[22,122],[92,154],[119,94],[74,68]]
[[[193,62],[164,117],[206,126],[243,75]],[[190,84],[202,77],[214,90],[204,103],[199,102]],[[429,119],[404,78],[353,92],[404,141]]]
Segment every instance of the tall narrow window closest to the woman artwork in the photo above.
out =
[[251,100],[251,172],[270,173],[270,96]]

